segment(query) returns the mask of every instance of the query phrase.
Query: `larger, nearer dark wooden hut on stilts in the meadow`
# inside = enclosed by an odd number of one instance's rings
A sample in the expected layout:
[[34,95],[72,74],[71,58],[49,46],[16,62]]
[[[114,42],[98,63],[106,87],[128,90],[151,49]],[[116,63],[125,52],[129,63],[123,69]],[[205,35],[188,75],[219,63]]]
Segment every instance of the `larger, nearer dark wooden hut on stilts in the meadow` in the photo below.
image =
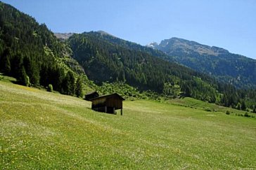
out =
[[121,109],[122,115],[122,101],[124,101],[124,98],[117,93],[96,97],[90,99],[90,101],[92,102],[91,109],[94,111],[115,114],[116,110]]

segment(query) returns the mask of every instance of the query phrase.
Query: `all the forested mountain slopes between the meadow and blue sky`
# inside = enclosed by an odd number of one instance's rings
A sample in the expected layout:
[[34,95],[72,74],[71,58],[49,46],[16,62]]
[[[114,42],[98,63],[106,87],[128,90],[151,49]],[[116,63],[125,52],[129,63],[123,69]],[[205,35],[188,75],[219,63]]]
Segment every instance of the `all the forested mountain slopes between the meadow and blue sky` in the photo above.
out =
[[[82,97],[82,84],[87,90],[97,90],[105,82],[122,82],[139,92],[151,92],[167,99],[193,97],[233,108],[240,108],[237,107],[240,105],[243,109],[255,108],[255,89],[249,89],[255,85],[255,60],[231,55],[221,48],[172,38],[169,43],[163,41],[154,46],[160,49],[173,46],[174,50],[162,52],[104,31],[53,34],[45,24],[38,24],[34,18],[5,3],[1,3],[0,26],[1,72],[17,78],[22,85],[52,85],[53,90],[62,94]],[[179,53],[194,61],[189,63],[197,65],[189,69],[177,64],[181,59],[177,57]],[[205,60],[198,57],[201,55]],[[222,59],[223,55],[227,57]],[[240,84],[246,80],[241,86],[248,88],[237,89],[229,83],[231,78],[217,80],[206,68],[212,68],[214,75],[236,77]],[[248,72],[250,76],[245,76]],[[133,95],[132,92],[129,95]]]

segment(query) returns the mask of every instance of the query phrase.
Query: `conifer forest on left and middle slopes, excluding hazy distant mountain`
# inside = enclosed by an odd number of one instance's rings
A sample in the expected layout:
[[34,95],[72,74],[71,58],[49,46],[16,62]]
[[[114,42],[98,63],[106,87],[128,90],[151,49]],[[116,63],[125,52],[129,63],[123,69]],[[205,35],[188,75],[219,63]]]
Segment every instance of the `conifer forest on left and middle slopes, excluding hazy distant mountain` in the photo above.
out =
[[17,78],[22,85],[82,97],[86,84],[101,93],[120,92],[132,98],[193,97],[255,110],[256,90],[237,90],[161,59],[165,56],[103,31],[72,34],[60,41],[46,24],[0,3],[0,72]]

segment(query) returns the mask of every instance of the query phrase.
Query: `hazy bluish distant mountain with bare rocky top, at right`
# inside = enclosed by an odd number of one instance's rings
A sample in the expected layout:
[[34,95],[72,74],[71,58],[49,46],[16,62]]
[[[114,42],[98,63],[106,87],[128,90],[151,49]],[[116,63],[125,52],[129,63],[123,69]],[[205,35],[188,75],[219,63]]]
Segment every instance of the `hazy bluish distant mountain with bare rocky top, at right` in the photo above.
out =
[[232,54],[215,46],[202,45],[195,41],[170,38],[147,45],[161,50],[175,61],[191,69],[215,76],[218,80],[240,88],[256,88],[256,60]]

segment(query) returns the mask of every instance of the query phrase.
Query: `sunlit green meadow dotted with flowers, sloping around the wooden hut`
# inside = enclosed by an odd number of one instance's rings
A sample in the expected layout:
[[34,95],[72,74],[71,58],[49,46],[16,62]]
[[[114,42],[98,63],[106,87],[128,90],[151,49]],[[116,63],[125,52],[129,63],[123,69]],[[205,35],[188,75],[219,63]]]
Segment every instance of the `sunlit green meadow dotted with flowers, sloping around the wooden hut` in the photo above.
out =
[[256,169],[256,120],[124,101],[124,115],[0,81],[0,169]]

